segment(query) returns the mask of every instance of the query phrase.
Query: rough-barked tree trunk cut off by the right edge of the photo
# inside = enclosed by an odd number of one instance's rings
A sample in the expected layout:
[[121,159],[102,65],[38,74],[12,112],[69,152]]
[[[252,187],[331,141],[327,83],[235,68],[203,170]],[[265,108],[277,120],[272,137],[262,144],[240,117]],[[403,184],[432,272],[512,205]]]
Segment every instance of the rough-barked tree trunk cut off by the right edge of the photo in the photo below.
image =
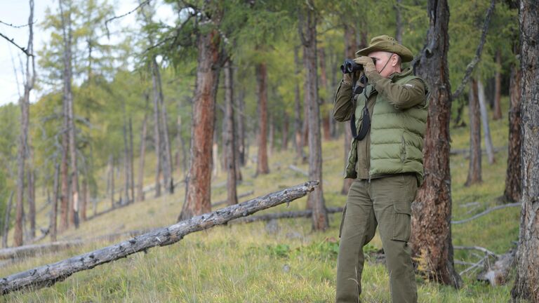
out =
[[521,0],[519,8],[521,79],[522,209],[513,299],[539,302],[539,2]]

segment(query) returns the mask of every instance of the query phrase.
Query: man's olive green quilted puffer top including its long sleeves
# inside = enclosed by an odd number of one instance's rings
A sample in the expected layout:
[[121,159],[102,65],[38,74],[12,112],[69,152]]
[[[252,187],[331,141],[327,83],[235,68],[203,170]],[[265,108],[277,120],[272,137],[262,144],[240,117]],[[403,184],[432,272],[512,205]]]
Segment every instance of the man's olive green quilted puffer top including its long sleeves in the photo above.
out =
[[[333,111],[337,121],[350,120],[351,95],[351,86],[341,83]],[[359,130],[361,110],[366,104],[371,129],[364,140],[352,140],[345,177],[371,179],[415,173],[421,184],[428,97],[425,82],[413,76],[411,69],[369,83],[357,98],[355,123]]]

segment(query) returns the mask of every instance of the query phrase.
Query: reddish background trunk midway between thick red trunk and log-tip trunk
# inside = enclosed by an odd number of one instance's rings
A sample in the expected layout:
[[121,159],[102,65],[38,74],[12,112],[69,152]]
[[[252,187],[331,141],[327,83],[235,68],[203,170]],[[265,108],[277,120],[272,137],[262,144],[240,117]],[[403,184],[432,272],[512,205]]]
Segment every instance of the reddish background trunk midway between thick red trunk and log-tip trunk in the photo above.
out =
[[258,160],[256,175],[270,173],[267,165],[267,69],[265,62],[255,66],[258,84]]

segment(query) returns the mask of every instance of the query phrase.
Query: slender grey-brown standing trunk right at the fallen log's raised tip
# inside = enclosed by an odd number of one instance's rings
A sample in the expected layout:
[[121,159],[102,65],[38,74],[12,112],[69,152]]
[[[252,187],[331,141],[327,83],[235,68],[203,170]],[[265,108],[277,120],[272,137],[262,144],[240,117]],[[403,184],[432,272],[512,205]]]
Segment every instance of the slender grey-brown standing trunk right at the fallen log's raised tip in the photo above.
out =
[[[311,4],[309,4],[312,6]],[[322,144],[320,135],[320,107],[318,104],[317,75],[317,17],[307,8],[299,15],[300,36],[303,46],[303,68],[305,69],[305,105],[309,123],[309,178],[318,180],[319,186],[307,197],[307,206],[312,209],[312,229],[321,231],[329,226],[324,190],[322,187]],[[305,34],[304,30],[305,28]]]

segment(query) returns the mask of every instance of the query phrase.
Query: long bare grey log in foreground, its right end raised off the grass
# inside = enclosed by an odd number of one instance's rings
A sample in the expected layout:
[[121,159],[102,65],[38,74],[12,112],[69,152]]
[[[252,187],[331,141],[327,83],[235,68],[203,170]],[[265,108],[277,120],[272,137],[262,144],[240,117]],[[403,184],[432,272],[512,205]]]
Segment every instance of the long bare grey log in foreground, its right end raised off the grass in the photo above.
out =
[[226,224],[229,220],[246,217],[259,210],[301,198],[314,190],[314,187],[317,187],[318,184],[318,181],[305,182],[305,184],[253,198],[244,203],[192,217],[189,220],[180,221],[169,227],[160,228],[141,236],[135,236],[128,241],[94,250],[91,253],[6,276],[0,280],[1,293],[6,295],[16,290],[36,290],[48,287],[58,281],[65,280],[77,271],[93,269],[98,265],[112,262],[134,253],[147,251],[149,248],[156,246],[171,245],[195,231]]

